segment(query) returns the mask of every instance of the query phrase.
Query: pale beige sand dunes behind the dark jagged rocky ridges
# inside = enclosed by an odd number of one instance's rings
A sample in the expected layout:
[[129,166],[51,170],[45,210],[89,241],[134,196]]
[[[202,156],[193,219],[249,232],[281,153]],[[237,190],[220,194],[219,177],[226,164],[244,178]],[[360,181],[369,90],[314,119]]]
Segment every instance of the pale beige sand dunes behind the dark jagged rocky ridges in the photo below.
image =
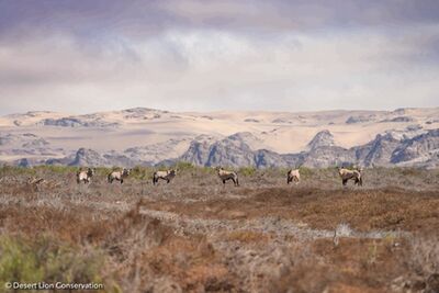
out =
[[[1,135],[33,134],[63,154],[80,147],[98,151],[123,151],[131,147],[181,140],[172,154],[184,151],[199,135],[225,137],[249,132],[258,139],[250,147],[280,154],[299,153],[314,135],[328,129],[336,145],[352,147],[372,140],[385,131],[407,132],[439,128],[439,108],[395,111],[323,112],[168,112],[145,108],[70,115],[55,112],[27,112],[0,117]],[[27,148],[31,146],[26,146]],[[24,148],[26,148],[24,147]],[[21,142],[0,145],[0,160],[10,160]],[[169,151],[169,148],[168,148]],[[16,157],[16,156],[13,156]]]

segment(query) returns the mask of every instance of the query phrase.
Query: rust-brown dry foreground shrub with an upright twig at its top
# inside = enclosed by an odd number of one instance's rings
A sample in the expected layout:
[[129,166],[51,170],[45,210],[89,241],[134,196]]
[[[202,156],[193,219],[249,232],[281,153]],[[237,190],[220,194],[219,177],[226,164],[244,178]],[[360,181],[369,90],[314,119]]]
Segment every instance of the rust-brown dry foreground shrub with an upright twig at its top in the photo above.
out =
[[228,270],[204,236],[175,235],[160,221],[139,213],[143,204],[115,219],[104,240],[123,288],[130,292],[200,292],[233,286]]

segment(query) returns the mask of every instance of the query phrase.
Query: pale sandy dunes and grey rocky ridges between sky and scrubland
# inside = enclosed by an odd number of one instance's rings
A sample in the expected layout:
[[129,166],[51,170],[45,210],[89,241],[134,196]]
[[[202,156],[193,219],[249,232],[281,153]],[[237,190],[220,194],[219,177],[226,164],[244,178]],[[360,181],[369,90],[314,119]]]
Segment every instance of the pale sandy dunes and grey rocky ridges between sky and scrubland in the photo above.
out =
[[438,166],[439,108],[175,113],[135,108],[0,117],[0,161],[31,166]]

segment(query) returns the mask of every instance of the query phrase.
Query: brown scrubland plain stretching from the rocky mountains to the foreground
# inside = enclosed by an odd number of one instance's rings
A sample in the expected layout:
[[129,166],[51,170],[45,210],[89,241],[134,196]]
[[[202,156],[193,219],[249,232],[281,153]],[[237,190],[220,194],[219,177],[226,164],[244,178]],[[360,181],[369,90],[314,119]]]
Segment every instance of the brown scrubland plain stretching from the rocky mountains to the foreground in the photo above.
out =
[[[156,168],[158,169],[158,168]],[[97,282],[105,292],[439,292],[439,170],[241,168],[225,187],[179,165],[167,184],[135,168],[0,168],[3,283]],[[30,184],[29,178],[44,178]]]

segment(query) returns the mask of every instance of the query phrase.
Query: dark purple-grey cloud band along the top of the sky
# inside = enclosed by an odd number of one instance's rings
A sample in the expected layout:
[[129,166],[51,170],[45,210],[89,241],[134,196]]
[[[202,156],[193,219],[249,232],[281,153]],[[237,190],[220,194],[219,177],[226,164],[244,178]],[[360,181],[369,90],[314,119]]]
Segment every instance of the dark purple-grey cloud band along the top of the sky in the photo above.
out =
[[[349,29],[437,23],[435,0],[24,0],[0,3],[0,32],[67,31],[78,36],[121,33],[133,37],[172,27],[246,32]],[[12,32],[13,34],[13,32]]]

